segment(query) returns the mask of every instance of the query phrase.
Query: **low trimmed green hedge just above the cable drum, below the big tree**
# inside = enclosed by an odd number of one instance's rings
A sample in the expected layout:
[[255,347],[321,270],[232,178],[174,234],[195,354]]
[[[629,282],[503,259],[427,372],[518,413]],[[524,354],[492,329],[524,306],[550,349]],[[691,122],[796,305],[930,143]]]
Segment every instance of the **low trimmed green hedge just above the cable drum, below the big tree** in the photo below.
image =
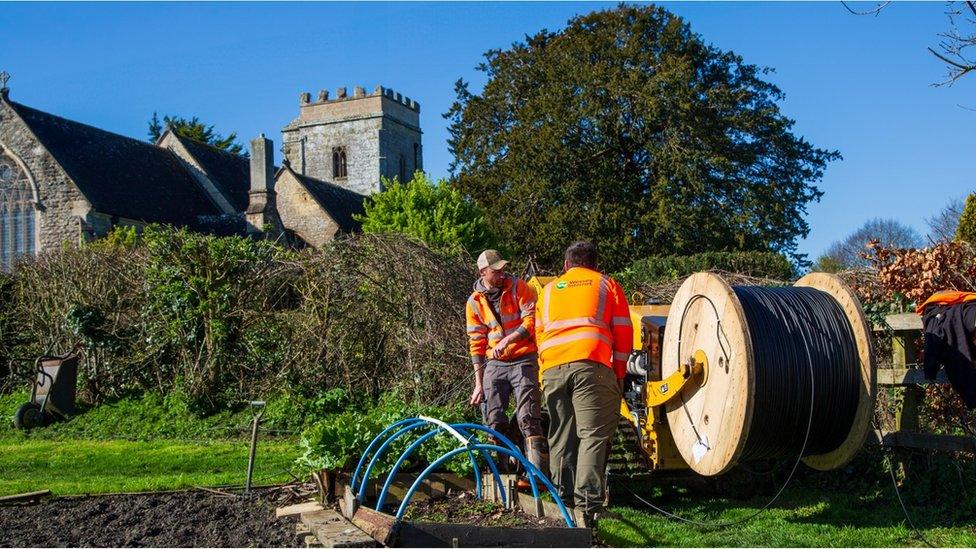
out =
[[705,252],[648,257],[631,263],[615,276],[624,288],[632,291],[644,285],[712,270],[773,280],[790,280],[796,276],[796,270],[786,256],[774,252]]

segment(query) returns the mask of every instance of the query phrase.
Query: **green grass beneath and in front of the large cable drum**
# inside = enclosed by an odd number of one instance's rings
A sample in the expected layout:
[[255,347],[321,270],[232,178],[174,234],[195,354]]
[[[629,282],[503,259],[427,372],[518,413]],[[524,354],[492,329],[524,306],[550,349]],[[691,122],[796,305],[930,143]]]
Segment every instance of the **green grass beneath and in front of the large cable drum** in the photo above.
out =
[[[669,519],[628,498],[626,505],[611,508],[618,518],[600,521],[598,536],[614,547],[925,546],[906,524],[890,484],[887,490],[882,484],[875,488],[855,484],[850,488],[845,491],[799,483],[788,488],[767,511],[724,528]],[[769,500],[769,496],[734,500],[693,493],[681,497],[663,497],[660,492],[657,495],[649,501],[658,507],[684,518],[713,523],[748,517]],[[962,492],[958,497],[962,497]],[[951,505],[951,501],[944,503]],[[925,538],[935,546],[976,544],[976,523],[972,520],[954,521],[942,506],[916,507],[911,513]]]

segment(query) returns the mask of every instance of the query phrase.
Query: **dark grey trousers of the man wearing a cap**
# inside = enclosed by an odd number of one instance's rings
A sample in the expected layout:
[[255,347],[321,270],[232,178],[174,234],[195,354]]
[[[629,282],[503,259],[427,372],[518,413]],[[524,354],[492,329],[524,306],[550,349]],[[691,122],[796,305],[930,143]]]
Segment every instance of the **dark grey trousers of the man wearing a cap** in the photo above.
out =
[[510,362],[488,361],[482,377],[485,391],[485,424],[505,434],[509,426],[508,403],[515,393],[515,415],[525,438],[543,436],[539,364],[535,354]]

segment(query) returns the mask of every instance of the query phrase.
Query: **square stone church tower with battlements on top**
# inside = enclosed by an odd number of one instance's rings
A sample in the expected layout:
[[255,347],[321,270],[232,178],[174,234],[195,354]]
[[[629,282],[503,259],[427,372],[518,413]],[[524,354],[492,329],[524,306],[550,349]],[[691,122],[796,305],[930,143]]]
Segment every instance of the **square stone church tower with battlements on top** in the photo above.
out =
[[420,136],[420,105],[380,86],[331,99],[322,90],[315,101],[302,93],[298,118],[281,130],[295,173],[364,195],[383,190],[381,176],[406,181],[423,169]]

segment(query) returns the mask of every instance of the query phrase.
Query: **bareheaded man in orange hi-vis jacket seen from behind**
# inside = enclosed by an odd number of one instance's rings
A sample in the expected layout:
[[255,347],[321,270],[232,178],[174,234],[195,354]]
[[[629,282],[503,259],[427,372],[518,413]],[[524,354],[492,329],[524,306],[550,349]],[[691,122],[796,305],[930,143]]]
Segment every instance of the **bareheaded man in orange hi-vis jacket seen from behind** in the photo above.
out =
[[564,274],[536,303],[535,331],[550,469],[559,496],[592,525],[603,510],[607,457],[634,328],[623,288],[597,270],[591,242],[566,249]]

